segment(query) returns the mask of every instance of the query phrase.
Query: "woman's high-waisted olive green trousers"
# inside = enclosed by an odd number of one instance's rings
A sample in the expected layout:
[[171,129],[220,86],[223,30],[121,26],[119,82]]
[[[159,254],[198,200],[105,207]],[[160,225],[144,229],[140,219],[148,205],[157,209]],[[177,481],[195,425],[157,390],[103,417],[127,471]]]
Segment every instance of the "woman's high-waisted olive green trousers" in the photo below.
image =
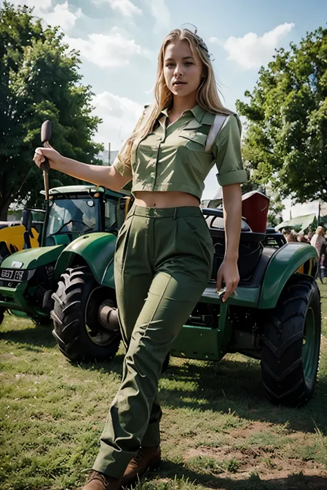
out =
[[213,245],[199,207],[133,205],[119,230],[115,287],[127,351],[93,469],[120,478],[141,446],[159,445],[158,380],[208,285]]

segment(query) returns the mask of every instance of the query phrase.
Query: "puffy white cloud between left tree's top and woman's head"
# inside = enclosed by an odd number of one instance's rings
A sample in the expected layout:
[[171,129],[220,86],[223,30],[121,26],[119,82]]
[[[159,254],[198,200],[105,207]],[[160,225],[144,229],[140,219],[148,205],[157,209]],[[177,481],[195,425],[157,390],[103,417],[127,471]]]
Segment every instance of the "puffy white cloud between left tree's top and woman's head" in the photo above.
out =
[[88,39],[66,36],[65,41],[100,68],[128,65],[130,57],[142,52],[134,39],[123,37],[117,28],[112,28],[109,34],[88,34]]

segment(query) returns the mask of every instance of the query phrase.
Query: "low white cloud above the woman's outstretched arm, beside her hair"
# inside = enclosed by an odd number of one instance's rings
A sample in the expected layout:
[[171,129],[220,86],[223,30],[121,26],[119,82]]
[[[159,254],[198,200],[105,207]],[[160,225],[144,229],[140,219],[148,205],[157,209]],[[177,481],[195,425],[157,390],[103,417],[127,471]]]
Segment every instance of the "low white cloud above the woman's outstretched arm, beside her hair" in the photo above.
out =
[[97,94],[92,103],[94,114],[103,119],[95,139],[104,143],[106,150],[108,143],[111,143],[112,151],[120,150],[141,116],[143,106],[110,92]]

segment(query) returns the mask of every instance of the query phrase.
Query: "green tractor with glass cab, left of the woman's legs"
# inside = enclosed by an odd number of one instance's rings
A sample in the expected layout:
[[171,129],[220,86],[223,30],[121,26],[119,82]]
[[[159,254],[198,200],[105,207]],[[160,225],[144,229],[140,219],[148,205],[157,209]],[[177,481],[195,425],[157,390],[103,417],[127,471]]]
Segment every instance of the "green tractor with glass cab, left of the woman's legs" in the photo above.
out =
[[50,190],[40,247],[0,258],[0,323],[6,310],[43,325],[51,316],[70,360],[114,356],[113,259],[128,195],[95,185]]

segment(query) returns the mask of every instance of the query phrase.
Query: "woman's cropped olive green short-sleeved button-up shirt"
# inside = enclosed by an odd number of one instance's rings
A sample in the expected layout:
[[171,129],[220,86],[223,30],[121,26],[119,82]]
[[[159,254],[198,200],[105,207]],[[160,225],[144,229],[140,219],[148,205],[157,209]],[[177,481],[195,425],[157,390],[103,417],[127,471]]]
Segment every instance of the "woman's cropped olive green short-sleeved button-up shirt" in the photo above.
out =
[[132,193],[181,191],[201,201],[204,180],[215,164],[220,185],[246,182],[241,159],[241,123],[236,114],[226,117],[210,152],[204,149],[215,114],[196,105],[168,127],[167,119],[168,111],[163,110],[154,130],[135,141],[131,166],[124,165],[119,156],[114,162],[119,174],[132,178]]

